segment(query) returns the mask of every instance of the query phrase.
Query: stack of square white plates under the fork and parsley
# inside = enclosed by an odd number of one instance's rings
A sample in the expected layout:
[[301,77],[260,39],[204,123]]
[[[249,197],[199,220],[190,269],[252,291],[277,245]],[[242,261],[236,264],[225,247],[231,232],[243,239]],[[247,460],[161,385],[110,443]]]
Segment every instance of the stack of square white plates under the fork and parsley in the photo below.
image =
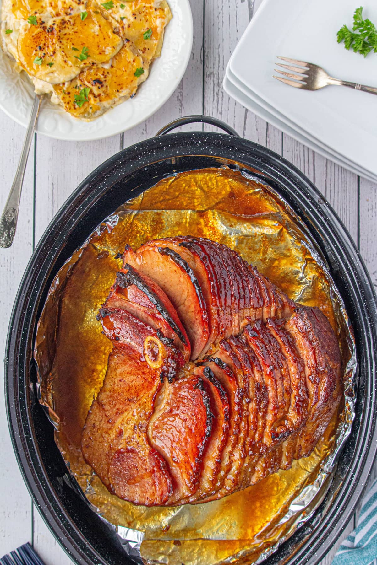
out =
[[[343,24],[352,29],[357,7],[354,0],[265,0],[229,60],[223,87],[310,149],[377,182],[377,95],[345,86],[310,91],[273,78],[276,63],[285,63],[277,57],[285,56],[377,87],[377,54],[364,58],[336,41]],[[363,17],[377,27],[375,0],[364,3]]]

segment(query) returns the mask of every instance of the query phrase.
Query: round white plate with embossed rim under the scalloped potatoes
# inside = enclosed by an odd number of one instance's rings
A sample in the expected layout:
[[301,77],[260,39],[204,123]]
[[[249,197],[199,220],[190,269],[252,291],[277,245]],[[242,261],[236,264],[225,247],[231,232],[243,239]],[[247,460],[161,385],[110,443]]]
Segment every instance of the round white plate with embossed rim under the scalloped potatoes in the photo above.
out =
[[[188,0],[168,0],[173,14],[168,23],[162,53],[150,68],[148,79],[128,99],[93,121],[81,121],[67,114],[46,97],[38,118],[37,132],[59,140],[89,141],[115,135],[149,118],[171,97],[189,62],[193,23]],[[27,126],[34,92],[32,82],[13,68],[12,60],[0,48],[0,108],[10,118]]]

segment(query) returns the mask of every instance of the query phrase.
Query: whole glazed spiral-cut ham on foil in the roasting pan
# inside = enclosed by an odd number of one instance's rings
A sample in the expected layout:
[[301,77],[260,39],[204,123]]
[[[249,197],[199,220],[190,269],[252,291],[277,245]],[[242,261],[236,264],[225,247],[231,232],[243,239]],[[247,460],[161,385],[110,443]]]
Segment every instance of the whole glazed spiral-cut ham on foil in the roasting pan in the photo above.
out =
[[326,316],[214,241],[127,246],[98,320],[113,349],[81,447],[137,505],[208,502],[287,469],[339,405]]

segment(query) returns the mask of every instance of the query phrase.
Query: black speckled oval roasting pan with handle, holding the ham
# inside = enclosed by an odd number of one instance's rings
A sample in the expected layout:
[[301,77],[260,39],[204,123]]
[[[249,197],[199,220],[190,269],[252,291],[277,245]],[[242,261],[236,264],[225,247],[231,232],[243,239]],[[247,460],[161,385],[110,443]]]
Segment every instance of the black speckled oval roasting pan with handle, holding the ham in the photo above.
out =
[[[167,133],[206,121],[224,133]],[[67,199],[46,229],[25,271],[10,320],[5,394],[12,442],[29,492],[51,532],[74,563],[124,565],[117,537],[90,510],[54,442],[53,427],[36,397],[32,359],[36,324],[54,276],[76,247],[128,198],[179,171],[228,164],[266,181],[304,221],[326,258],[353,325],[359,363],[356,415],[331,488],[314,516],[266,560],[269,565],[315,564],[328,553],[353,515],[375,459],[377,306],[365,265],[349,233],[318,189],[287,160],[244,140],[226,124],[189,116],[157,137],[128,147],[96,168]],[[211,564],[208,564],[211,565]]]

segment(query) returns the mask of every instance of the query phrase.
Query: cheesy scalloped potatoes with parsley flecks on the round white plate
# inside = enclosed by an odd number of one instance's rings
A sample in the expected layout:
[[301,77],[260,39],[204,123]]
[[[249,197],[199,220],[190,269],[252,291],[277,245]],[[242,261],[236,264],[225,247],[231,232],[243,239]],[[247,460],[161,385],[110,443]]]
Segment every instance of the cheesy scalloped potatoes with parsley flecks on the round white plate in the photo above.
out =
[[76,118],[97,118],[135,95],[172,17],[165,0],[123,2],[3,0],[2,47],[36,92]]

